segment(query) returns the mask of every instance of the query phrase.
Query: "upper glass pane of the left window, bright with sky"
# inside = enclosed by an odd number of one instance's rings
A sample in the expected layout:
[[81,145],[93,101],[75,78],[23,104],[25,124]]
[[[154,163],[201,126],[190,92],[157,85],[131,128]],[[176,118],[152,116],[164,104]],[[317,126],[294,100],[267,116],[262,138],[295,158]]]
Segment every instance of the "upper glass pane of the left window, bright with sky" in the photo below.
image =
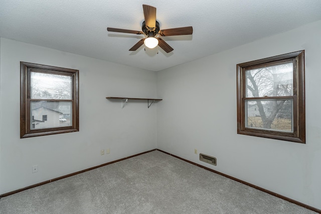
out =
[[32,99],[71,99],[71,76],[31,72]]

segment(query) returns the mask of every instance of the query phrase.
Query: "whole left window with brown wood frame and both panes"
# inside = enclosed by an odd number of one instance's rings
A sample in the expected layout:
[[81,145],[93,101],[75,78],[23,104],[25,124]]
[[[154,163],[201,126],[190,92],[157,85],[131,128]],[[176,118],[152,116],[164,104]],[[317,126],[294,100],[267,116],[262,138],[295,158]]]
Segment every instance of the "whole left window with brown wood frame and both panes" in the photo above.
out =
[[20,138],[78,132],[79,71],[27,62],[20,67]]

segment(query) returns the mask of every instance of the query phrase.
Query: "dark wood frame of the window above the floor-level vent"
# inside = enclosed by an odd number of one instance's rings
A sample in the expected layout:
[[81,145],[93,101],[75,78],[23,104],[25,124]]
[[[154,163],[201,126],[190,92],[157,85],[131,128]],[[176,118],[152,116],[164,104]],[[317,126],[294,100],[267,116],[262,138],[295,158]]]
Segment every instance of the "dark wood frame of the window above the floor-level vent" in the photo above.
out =
[[[293,132],[262,130],[245,126],[246,69],[264,64],[274,65],[280,61],[293,60]],[[237,133],[243,135],[278,139],[296,143],[305,143],[305,85],[304,85],[304,50],[279,56],[237,64]],[[266,98],[266,97],[258,97]],[[275,98],[275,97],[272,97]]]

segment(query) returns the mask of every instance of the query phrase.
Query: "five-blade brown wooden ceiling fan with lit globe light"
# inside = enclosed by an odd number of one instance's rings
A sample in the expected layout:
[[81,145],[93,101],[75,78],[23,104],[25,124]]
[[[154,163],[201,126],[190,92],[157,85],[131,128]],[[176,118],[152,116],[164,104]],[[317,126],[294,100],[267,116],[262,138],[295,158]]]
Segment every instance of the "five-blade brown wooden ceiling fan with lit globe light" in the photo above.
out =
[[145,44],[148,48],[154,48],[157,45],[161,47],[167,53],[170,53],[174,49],[167,44],[159,36],[180,36],[180,35],[192,35],[193,27],[183,27],[183,28],[171,28],[165,30],[159,30],[159,23],[156,21],[156,8],[149,5],[142,5],[144,11],[145,21],[141,25],[142,31],[133,31],[119,28],[107,28],[107,31],[119,32],[119,33],[129,33],[129,34],[143,34],[146,37],[139,40],[134,46],[132,46],[129,51],[137,50],[142,44]]

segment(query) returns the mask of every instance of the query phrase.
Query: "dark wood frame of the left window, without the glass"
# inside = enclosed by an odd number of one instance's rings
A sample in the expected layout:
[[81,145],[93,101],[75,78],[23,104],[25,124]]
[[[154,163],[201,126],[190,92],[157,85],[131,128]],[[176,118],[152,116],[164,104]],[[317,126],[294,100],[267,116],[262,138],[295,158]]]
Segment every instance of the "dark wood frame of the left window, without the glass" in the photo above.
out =
[[[49,74],[70,75],[72,78],[72,125],[45,129],[31,129],[31,77],[30,70]],[[20,138],[53,135],[79,131],[79,70],[20,62]],[[50,100],[64,101],[64,100]]]

